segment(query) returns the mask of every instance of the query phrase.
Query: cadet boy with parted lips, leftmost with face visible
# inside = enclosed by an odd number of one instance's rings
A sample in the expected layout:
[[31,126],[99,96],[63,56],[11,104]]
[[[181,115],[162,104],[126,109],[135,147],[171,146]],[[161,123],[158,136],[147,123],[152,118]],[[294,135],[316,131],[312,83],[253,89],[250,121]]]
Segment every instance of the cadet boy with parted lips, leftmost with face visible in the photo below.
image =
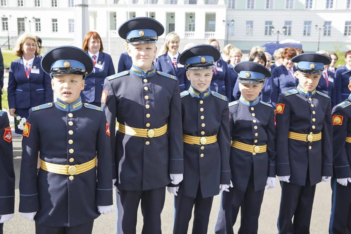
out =
[[52,78],[57,101],[29,110],[22,139],[20,215],[34,218],[37,234],[91,233],[94,219],[113,210],[106,116],[80,99],[93,62],[81,49],[63,46],[45,54],[41,66]]

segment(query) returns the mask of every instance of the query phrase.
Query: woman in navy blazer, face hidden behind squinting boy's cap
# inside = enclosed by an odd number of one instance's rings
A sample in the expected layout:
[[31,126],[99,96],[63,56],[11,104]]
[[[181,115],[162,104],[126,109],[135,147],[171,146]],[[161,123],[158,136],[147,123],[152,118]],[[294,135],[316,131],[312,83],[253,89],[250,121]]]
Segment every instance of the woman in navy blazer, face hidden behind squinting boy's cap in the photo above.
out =
[[[208,39],[205,44],[214,46],[219,50],[219,43],[216,39]],[[231,101],[232,93],[228,64],[223,59],[219,59],[214,65],[216,67],[213,68],[211,90],[227,96],[228,100]]]

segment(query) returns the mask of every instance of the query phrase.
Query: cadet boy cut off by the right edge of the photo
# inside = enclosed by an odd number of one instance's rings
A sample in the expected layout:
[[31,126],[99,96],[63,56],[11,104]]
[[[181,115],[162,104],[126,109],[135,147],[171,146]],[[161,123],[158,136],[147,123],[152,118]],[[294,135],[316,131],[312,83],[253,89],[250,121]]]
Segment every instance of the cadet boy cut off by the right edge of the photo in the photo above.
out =
[[[351,75],[351,70],[342,75]],[[350,77],[351,80],[351,77]],[[349,81],[351,90],[351,81]],[[332,210],[329,233],[343,234],[351,230],[351,94],[333,108],[333,164],[331,180]]]

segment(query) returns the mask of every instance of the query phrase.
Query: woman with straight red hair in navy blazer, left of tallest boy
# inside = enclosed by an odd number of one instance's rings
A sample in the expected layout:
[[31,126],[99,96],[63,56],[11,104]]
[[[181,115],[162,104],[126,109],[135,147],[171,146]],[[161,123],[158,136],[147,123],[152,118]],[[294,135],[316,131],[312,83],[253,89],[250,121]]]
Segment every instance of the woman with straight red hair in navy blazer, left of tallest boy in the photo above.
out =
[[82,102],[101,106],[101,95],[105,78],[115,74],[112,58],[109,54],[102,52],[104,47],[97,32],[85,34],[83,50],[92,58],[94,69],[85,78],[84,90],[80,93],[80,96]]

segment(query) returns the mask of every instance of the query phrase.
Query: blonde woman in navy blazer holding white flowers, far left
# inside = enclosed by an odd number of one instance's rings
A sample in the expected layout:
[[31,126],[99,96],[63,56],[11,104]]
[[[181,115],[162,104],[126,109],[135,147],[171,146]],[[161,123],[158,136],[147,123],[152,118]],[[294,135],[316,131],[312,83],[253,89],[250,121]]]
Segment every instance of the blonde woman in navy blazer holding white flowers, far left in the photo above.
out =
[[[35,36],[22,34],[18,38],[15,54],[20,58],[11,62],[7,88],[8,106],[11,116],[16,114],[27,119],[29,108],[53,101],[51,78],[41,68]],[[22,134],[16,124],[15,133]]]

